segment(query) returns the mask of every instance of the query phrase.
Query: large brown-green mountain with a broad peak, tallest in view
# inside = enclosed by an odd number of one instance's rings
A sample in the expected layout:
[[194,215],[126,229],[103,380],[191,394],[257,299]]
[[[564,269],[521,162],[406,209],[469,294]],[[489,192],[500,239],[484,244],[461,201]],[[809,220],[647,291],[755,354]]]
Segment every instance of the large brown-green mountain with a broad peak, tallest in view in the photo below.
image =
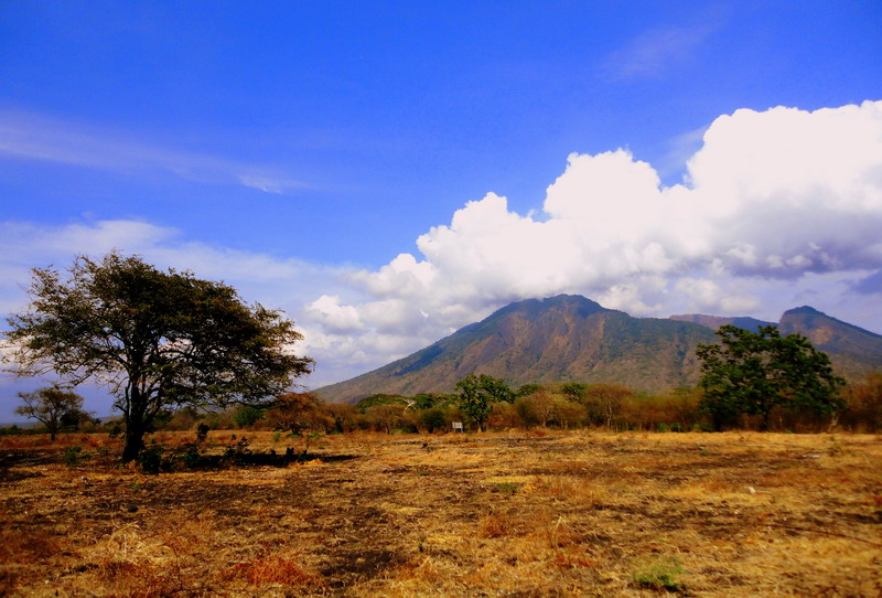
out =
[[347,403],[377,393],[445,393],[472,372],[513,386],[610,382],[657,392],[695,384],[695,348],[714,339],[706,325],[633,318],[561,295],[512,303],[412,355],[316,392]]

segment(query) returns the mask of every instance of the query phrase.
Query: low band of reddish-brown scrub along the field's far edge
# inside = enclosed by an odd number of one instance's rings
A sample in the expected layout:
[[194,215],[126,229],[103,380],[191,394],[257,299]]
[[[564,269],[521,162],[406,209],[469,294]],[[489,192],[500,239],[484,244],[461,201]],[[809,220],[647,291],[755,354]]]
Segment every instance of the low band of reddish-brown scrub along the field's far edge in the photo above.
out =
[[[493,380],[497,385],[505,384],[502,380]],[[204,410],[182,406],[165,409],[158,414],[148,431],[194,430],[205,426],[208,429],[282,430],[308,439],[314,435],[359,430],[443,434],[452,431],[453,421],[464,423],[465,429],[471,431],[596,428],[663,433],[716,429],[817,433],[830,429],[831,425],[847,431],[882,431],[882,374],[871,374],[863,382],[841,387],[841,404],[836,413],[776,405],[765,416],[744,410],[730,417],[721,427],[714,427],[712,402],[700,386],[653,395],[617,384],[570,382],[526,384],[509,392],[510,399],[488,402],[486,418],[481,423],[469,415],[461,393],[376,394],[356,404],[342,404],[325,402],[314,393],[299,392],[284,393],[259,407],[235,405]],[[122,434],[125,424],[121,420],[101,423],[78,417],[80,413],[75,409],[61,417],[56,431]],[[49,425],[45,429],[51,431]]]

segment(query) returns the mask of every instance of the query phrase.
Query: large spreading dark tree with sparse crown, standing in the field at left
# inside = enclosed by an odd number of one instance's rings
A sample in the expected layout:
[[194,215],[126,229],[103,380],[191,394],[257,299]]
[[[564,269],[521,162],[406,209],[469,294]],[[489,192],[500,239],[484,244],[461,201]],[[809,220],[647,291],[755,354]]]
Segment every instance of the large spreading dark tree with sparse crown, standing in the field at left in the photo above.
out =
[[68,274],[33,269],[28,310],[8,319],[11,359],[19,375],[108,386],[126,425],[123,461],[163,408],[260,405],[312,369],[291,352],[301,335],[281,312],[223,282],[116,252],[77,257]]

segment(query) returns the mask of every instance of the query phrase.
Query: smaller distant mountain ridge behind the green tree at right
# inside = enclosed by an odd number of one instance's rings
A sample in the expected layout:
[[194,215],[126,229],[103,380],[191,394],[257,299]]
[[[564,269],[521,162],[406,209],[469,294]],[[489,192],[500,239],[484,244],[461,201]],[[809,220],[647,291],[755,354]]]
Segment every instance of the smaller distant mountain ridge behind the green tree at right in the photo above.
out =
[[784,312],[777,324],[753,318],[720,318],[690,313],[671,316],[671,320],[696,322],[717,330],[732,324],[752,332],[760,325],[777,325],[782,334],[799,333],[830,356],[836,372],[849,380],[860,380],[870,372],[882,371],[882,335],[826,313],[803,306]]

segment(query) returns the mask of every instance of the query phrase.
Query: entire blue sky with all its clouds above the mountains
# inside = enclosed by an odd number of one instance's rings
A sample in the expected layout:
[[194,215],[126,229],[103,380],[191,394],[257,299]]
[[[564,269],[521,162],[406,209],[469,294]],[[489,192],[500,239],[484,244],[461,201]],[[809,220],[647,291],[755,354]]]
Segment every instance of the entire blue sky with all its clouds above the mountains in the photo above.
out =
[[[875,1],[3,2],[0,311],[31,267],[139,253],[286,309],[310,386],[557,292],[882,332],[880,23]],[[34,384],[0,378],[0,419]]]

